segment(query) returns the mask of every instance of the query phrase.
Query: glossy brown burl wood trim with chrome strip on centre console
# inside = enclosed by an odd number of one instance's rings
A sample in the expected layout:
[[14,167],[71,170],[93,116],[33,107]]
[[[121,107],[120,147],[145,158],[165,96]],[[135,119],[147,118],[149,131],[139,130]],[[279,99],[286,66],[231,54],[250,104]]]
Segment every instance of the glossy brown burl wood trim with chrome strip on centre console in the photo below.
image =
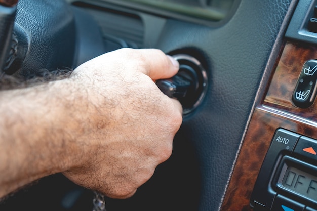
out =
[[221,210],[252,210],[249,200],[253,186],[276,129],[317,139],[317,103],[301,109],[291,100],[302,65],[309,59],[317,59],[316,47],[285,45],[267,93],[250,121]]

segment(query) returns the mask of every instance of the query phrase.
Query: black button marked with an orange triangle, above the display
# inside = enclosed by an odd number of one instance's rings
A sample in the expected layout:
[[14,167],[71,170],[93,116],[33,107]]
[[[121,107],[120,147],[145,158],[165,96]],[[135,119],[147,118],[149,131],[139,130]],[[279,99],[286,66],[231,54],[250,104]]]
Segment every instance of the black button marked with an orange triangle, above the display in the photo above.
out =
[[300,137],[294,153],[317,160],[317,140],[305,136]]

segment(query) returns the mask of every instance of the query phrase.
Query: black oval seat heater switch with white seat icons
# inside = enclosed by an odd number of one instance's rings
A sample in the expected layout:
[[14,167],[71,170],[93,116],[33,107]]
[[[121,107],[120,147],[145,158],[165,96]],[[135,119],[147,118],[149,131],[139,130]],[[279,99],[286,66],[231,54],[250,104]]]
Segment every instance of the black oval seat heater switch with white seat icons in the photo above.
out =
[[312,105],[316,96],[316,79],[317,60],[311,59],[305,62],[292,95],[295,106],[308,108]]

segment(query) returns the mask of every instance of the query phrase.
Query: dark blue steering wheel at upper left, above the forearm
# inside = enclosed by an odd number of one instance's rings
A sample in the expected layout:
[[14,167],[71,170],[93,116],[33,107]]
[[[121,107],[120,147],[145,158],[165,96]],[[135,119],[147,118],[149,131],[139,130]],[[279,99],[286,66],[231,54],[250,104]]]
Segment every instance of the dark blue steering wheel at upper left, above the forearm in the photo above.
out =
[[96,22],[80,9],[61,0],[17,2],[2,3],[0,65],[6,74],[27,79],[105,53]]

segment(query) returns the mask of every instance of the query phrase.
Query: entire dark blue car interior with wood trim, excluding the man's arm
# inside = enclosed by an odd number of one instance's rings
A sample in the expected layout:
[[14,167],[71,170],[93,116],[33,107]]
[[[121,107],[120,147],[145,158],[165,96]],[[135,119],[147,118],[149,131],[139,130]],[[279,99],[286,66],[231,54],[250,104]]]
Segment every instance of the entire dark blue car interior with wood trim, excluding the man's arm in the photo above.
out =
[[[176,76],[157,81],[184,110],[173,153],[134,196],[106,198],[107,211],[317,210],[316,0],[0,0],[0,8],[3,74],[74,69],[120,48],[179,61]],[[56,174],[0,210],[93,210],[93,199]]]

